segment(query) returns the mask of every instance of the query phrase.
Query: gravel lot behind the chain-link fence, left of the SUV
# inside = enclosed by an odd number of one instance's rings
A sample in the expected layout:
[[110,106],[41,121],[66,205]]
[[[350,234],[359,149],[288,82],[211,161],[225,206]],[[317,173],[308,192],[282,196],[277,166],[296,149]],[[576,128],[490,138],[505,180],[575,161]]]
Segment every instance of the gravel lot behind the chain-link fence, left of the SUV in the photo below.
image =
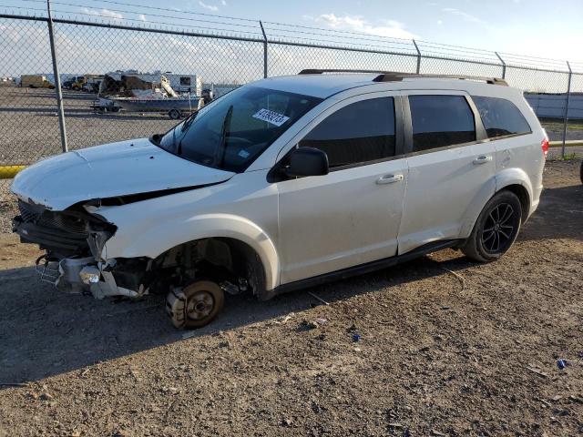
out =
[[[81,91],[63,91],[63,98],[69,149],[149,137],[177,123],[160,114],[98,114],[91,107],[97,96]],[[60,151],[55,91],[0,86],[0,166],[29,164]]]

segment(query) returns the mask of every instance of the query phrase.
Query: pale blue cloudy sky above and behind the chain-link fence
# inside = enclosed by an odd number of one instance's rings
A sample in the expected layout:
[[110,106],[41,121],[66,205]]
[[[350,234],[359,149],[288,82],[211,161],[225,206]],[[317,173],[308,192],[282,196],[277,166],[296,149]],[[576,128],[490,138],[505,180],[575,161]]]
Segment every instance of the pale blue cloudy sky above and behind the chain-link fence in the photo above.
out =
[[[414,72],[414,38],[425,55],[421,73],[502,76],[496,50],[508,65],[537,69],[566,71],[568,59],[573,70],[581,73],[573,76],[572,89],[583,91],[583,0],[549,4],[541,0],[51,0],[57,17],[171,27],[189,33],[235,33],[260,40],[261,19],[270,40],[269,76],[296,74],[303,68]],[[0,0],[0,13],[45,15],[46,1]],[[196,74],[214,84],[240,84],[263,76],[261,42],[62,23],[55,25],[55,34],[62,74],[172,71]],[[278,45],[278,39],[409,56]],[[520,57],[513,59],[509,54]],[[0,76],[50,74],[46,24],[0,19],[0,55]],[[474,59],[490,65],[426,55]],[[530,91],[564,92],[568,75],[508,68],[506,80]]]

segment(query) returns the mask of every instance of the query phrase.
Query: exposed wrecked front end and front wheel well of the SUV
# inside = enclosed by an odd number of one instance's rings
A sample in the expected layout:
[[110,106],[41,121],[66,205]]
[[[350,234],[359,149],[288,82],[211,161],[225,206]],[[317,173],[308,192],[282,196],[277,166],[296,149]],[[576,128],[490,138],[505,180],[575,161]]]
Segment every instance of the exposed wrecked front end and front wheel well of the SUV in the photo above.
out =
[[156,259],[106,259],[104,247],[117,227],[81,204],[64,211],[19,200],[13,231],[46,254],[36,260],[41,279],[59,290],[96,299],[168,293],[197,279],[210,279],[230,294],[261,290],[261,261],[222,239],[200,239],[169,249]]

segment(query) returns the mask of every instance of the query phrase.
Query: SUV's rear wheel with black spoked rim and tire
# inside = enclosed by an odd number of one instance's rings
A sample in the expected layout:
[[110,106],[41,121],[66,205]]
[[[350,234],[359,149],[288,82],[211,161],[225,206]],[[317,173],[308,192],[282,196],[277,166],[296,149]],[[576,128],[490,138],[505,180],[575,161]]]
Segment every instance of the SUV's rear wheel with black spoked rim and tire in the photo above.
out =
[[517,195],[507,190],[496,193],[482,209],[462,252],[480,262],[499,259],[517,239],[521,221],[522,206]]

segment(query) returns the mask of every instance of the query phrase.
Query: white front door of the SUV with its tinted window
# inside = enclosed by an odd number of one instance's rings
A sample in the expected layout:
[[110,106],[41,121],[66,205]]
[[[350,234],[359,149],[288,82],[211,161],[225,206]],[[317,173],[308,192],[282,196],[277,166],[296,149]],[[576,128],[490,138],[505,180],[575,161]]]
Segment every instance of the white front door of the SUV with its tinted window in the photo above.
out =
[[[330,173],[278,182],[281,283],[396,254],[406,159],[399,97],[351,97],[324,112],[299,147],[326,152]],[[284,158],[285,159],[285,158]]]

